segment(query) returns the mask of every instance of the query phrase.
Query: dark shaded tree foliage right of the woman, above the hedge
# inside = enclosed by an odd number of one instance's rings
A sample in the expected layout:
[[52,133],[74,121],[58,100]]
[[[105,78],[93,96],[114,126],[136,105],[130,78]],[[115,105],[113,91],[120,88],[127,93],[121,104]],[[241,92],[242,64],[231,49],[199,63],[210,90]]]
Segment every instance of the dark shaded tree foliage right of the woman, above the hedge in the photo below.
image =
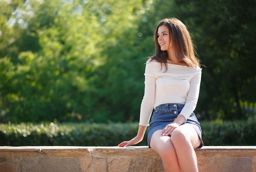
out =
[[[255,0],[176,0],[195,37],[206,70],[200,109],[204,118],[241,119],[255,114]],[[252,111],[254,109],[254,112]]]

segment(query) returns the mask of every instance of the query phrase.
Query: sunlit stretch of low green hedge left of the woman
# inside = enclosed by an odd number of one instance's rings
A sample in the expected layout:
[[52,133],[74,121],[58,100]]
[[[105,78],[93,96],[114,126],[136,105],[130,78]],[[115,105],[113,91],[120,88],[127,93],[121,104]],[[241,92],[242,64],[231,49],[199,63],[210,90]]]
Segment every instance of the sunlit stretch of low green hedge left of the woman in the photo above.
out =
[[[3,146],[115,146],[137,133],[136,123],[0,124]],[[146,145],[146,138],[140,145]]]

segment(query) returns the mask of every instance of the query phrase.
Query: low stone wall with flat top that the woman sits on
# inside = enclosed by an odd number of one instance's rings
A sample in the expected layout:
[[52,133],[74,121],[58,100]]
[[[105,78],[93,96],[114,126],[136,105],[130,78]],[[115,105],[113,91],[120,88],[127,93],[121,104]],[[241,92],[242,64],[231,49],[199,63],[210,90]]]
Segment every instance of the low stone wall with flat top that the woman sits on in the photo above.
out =
[[[256,172],[256,146],[197,148],[200,172]],[[164,172],[147,146],[0,146],[0,172]]]

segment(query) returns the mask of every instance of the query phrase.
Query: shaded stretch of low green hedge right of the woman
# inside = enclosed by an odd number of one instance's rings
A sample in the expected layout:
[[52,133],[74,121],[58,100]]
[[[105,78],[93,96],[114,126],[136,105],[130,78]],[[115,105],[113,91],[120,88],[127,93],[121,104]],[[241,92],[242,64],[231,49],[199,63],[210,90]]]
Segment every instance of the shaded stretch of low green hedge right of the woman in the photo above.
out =
[[201,122],[204,145],[253,146],[256,145],[256,120]]

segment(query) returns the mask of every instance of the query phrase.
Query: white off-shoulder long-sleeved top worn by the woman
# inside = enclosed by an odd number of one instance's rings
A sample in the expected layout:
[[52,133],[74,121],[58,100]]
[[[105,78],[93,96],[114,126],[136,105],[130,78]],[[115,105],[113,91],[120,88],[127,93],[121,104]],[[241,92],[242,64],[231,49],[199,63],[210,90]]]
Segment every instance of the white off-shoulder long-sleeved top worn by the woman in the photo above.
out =
[[195,110],[198,102],[202,69],[184,65],[168,64],[161,69],[161,63],[146,62],[145,91],[141,102],[139,125],[148,126],[153,109],[166,103],[184,104],[179,115],[186,119]]

